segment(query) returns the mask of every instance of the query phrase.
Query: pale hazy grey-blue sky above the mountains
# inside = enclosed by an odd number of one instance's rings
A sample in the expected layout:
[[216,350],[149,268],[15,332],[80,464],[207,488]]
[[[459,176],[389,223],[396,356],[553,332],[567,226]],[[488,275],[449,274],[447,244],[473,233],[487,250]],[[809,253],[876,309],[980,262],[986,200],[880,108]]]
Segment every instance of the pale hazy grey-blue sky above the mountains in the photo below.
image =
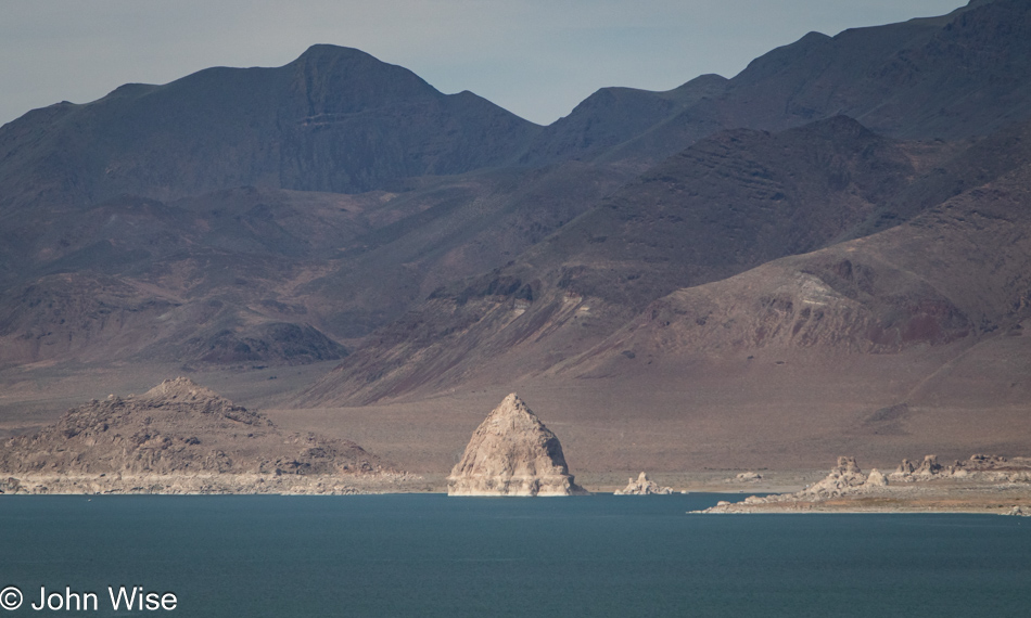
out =
[[438,90],[550,124],[599,88],[733,77],[809,31],[942,15],[966,0],[4,0],[0,124],[128,82],[358,48]]

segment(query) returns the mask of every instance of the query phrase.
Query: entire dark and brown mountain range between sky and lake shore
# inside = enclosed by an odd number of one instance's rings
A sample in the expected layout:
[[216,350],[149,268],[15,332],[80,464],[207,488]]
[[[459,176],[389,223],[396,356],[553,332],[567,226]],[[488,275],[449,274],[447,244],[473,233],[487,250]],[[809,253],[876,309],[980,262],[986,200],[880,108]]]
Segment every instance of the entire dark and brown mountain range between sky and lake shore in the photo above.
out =
[[315,46],[0,128],[0,363],[340,361],[279,404],[456,436],[519,386],[588,469],[1019,449],[1029,189],[1022,1],[547,127]]

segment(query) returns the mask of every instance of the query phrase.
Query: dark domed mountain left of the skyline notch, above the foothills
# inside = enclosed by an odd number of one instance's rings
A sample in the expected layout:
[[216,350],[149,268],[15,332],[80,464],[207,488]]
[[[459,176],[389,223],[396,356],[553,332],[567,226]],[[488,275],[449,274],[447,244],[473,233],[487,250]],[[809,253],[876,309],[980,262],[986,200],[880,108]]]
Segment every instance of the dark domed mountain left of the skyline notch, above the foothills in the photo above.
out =
[[257,185],[355,193],[513,162],[539,128],[445,95],[358,50],[315,46],[279,68],[127,85],[0,129],[0,206],[174,199]]

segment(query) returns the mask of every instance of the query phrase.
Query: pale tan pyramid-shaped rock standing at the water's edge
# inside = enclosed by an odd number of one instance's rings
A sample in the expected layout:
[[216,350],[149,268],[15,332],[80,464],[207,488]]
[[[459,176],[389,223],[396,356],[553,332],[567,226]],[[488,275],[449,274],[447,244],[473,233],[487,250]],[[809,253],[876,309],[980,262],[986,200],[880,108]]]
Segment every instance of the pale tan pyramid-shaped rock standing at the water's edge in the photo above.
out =
[[448,495],[570,495],[573,482],[562,445],[511,394],[476,427],[447,477]]

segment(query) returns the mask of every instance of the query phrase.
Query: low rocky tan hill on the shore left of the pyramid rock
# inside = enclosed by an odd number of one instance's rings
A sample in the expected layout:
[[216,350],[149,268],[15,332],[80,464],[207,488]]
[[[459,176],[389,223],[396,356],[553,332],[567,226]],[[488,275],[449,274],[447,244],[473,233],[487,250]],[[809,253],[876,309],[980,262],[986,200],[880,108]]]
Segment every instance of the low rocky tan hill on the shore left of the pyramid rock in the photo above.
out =
[[354,442],[283,432],[184,377],[0,446],[7,492],[349,493],[351,479],[384,473]]

